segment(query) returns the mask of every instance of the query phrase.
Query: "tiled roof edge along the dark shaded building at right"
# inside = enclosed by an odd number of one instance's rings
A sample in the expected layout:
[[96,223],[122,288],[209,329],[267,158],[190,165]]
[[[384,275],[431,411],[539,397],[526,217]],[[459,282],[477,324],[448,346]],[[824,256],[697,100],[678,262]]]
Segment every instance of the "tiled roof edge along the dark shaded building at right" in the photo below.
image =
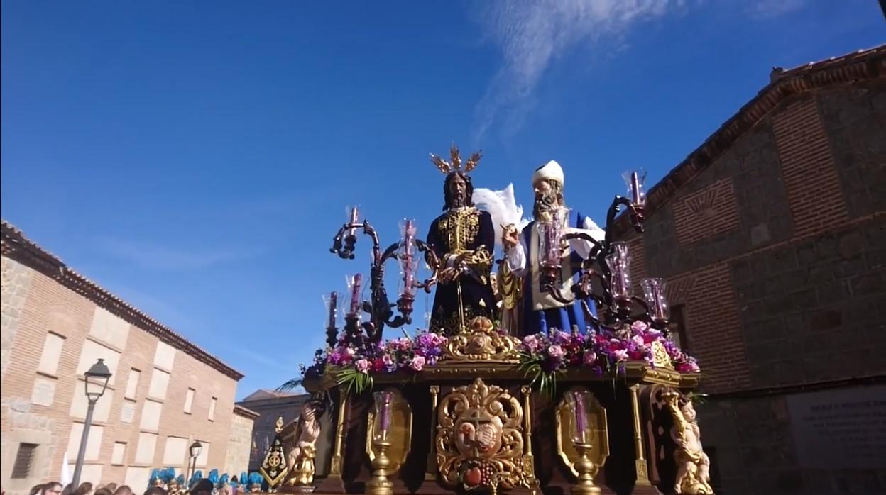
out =
[[[769,84],[760,89],[756,97],[744,104],[680,165],[675,166],[661,181],[649,189],[646,199],[647,218],[667,203],[678,189],[711,166],[745,131],[757,125],[785,98],[852,81],[884,78],[886,78],[886,44],[787,70],[780,67],[773,68]],[[613,234],[617,238],[624,238],[631,231],[627,215],[620,215],[613,228]]]

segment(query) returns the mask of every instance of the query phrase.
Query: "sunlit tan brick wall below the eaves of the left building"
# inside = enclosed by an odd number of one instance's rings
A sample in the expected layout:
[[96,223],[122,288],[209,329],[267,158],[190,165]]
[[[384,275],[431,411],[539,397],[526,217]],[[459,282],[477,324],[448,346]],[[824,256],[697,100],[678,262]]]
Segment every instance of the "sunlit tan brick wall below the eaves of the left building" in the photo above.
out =
[[[4,274],[17,273],[16,270],[20,271],[23,267],[18,261],[5,257],[3,263]],[[6,290],[7,279],[4,277],[4,314],[8,312]],[[101,441],[97,458],[85,461],[83,481],[146,483],[146,476],[151,468],[170,465],[169,462],[164,462],[167,437],[187,438],[188,444],[193,438],[207,442],[209,444],[207,467],[223,468],[227,457],[237,381],[186,352],[176,350],[172,368],[166,369],[170,373],[170,379],[165,398],[151,399],[153,403],[159,403],[157,427],[143,428],[144,404],[149,400],[147,397],[152,374],[158,366],[155,365],[155,356],[159,339],[142,329],[120,321],[116,316],[108,315],[115,325],[122,324],[121,328],[128,329],[125,348],[115,347],[107,339],[98,337],[96,332],[90,333],[96,313],[96,305],[89,299],[66,289],[42,273],[32,272],[30,275],[27,298],[24,299],[20,309],[18,331],[12,339],[9,367],[3,376],[4,460],[10,459],[7,455],[11,452],[14,459],[14,450],[18,443],[27,441],[22,439],[24,438],[22,436],[34,429],[33,426],[23,428],[21,422],[12,422],[6,414],[6,411],[12,408],[19,414],[29,415],[22,421],[40,428],[46,425],[44,429],[51,432],[51,438],[44,437],[44,441],[51,444],[46,445],[51,455],[47,456],[45,466],[51,475],[49,477],[58,478],[64,452],[68,450],[71,430],[75,422],[82,422],[82,419],[72,417],[71,405],[76,400],[82,400],[83,394],[83,383],[75,375],[76,368],[81,360],[84,344],[92,346],[99,344],[105,349],[104,352],[119,353],[119,363],[113,370],[113,385],[109,385],[105,397],[102,398],[110,401],[109,412],[106,418],[97,418],[93,422],[97,428],[90,432],[90,437],[97,435],[97,431],[101,430]],[[47,375],[37,372],[37,363],[40,362],[43,344],[50,331],[64,336],[65,342],[58,360],[58,369],[54,374]],[[7,327],[4,320],[4,338],[6,336]],[[123,397],[131,368],[141,372],[134,400]],[[32,404],[37,381],[49,383],[54,389],[50,396],[50,406]],[[184,413],[184,399],[188,388],[196,391],[191,414]],[[217,398],[217,403],[214,419],[210,421],[208,411],[212,398]],[[101,407],[97,406],[97,411],[99,409]],[[133,413],[129,422],[123,420],[124,409]],[[31,416],[34,419],[31,419]],[[136,448],[141,434],[157,436],[150,462],[136,462]],[[76,442],[79,445],[79,438]],[[111,462],[115,442],[126,443],[120,465],[113,465]],[[76,445],[74,445],[75,451]],[[185,456],[185,452],[182,452],[181,462],[178,463],[182,467]],[[74,457],[69,457],[68,460],[73,464]],[[8,464],[4,462],[2,480],[4,489],[11,495],[27,491],[30,484],[19,487],[9,483],[9,473],[6,468]],[[87,474],[98,476],[100,479],[88,479]],[[48,478],[38,481],[46,479]],[[141,490],[140,486],[133,488],[136,491]]]

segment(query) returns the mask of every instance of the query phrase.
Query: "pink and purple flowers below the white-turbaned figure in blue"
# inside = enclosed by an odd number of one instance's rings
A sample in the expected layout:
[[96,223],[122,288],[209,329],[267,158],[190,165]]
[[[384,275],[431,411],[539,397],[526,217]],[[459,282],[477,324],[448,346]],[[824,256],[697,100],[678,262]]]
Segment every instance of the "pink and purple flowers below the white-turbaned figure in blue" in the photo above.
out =
[[550,335],[525,336],[520,344],[520,368],[532,375],[532,383],[539,383],[542,392],[553,391],[556,376],[567,367],[590,367],[597,375],[624,372],[627,361],[643,361],[655,366],[653,344],[659,343],[680,373],[699,371],[695,358],[680,348],[662,332],[643,321],[634,321],[626,332],[611,329],[600,331],[563,332],[553,329]]

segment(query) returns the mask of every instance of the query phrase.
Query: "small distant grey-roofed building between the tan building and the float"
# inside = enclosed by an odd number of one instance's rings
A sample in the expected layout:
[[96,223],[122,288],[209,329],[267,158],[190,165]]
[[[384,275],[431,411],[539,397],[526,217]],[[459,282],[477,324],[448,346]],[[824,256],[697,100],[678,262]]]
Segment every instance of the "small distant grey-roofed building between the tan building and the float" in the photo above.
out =
[[301,406],[307,398],[307,394],[259,390],[237,402],[237,406],[248,407],[256,414],[252,430],[253,449],[249,455],[251,471],[259,469],[268,445],[274,441],[277,418],[283,418],[284,425],[299,419]]

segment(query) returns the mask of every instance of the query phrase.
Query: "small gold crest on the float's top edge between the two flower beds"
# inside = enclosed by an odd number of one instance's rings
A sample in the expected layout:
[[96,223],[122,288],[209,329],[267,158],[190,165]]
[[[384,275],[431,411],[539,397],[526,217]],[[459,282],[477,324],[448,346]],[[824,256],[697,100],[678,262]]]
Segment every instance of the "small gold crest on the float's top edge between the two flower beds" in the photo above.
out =
[[470,321],[468,329],[459,335],[449,337],[446,357],[450,360],[500,360],[517,362],[519,339],[501,335],[494,329],[493,322],[478,316]]

